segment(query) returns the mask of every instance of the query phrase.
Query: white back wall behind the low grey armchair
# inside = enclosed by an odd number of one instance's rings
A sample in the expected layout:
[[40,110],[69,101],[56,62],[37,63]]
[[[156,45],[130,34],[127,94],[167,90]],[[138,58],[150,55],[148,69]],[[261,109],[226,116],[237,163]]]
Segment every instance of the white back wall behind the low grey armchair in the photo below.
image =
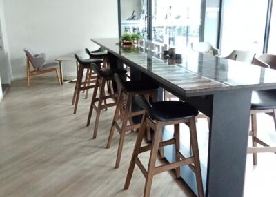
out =
[[[48,60],[84,48],[97,48],[92,37],[117,37],[115,0],[3,0],[14,79],[23,78],[28,47],[45,52]],[[75,75],[75,63],[65,66],[65,75]]]

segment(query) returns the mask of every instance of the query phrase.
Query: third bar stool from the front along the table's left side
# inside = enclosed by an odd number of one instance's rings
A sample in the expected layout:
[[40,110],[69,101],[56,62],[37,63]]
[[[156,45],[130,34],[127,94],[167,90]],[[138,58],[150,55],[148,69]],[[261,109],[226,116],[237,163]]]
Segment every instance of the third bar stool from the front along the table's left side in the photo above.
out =
[[[108,70],[103,70],[99,67],[99,65],[95,64],[95,63],[91,63],[91,68],[92,70],[94,70],[97,73],[97,80],[96,80],[96,84],[95,84],[95,88],[94,88],[94,92],[93,92],[93,96],[92,96],[92,101],[91,101],[91,105],[90,105],[90,110],[88,113],[88,120],[87,120],[87,126],[90,125],[90,120],[91,120],[91,116],[92,116],[92,112],[93,109],[96,110],[96,120],[95,120],[95,127],[94,127],[94,133],[93,133],[93,138],[95,139],[97,137],[97,129],[98,129],[98,125],[99,125],[99,116],[101,114],[101,110],[103,109],[107,109],[109,107],[113,107],[117,104],[117,98],[118,98],[118,94],[114,93],[114,94],[110,94],[108,96],[106,96],[105,94],[105,89],[104,87],[106,86],[106,81],[111,81],[113,80],[113,75],[115,73],[119,74],[119,75],[124,75],[126,74],[126,70],[124,69],[108,69]],[[97,98],[97,92],[99,90],[99,97]],[[108,103],[108,104],[102,104],[103,100],[106,100],[108,98],[114,98],[116,101],[113,103]],[[96,106],[96,102],[98,102],[98,106]]]

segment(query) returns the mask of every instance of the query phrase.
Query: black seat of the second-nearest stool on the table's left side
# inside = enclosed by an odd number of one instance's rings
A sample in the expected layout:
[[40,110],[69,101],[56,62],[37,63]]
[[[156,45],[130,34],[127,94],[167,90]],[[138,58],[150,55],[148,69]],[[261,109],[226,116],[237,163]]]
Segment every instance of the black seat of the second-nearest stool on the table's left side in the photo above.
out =
[[141,81],[141,80],[122,81],[118,74],[114,74],[114,79],[125,92],[156,90],[159,88],[159,85],[157,85],[157,83],[155,83],[154,81]]

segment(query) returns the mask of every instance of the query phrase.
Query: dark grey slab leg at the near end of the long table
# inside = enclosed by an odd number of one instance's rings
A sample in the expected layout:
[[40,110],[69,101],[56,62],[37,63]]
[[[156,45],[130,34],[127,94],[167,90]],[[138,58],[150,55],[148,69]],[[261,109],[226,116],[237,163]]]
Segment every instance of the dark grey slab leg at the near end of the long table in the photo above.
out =
[[213,96],[206,196],[243,196],[250,117],[250,90]]

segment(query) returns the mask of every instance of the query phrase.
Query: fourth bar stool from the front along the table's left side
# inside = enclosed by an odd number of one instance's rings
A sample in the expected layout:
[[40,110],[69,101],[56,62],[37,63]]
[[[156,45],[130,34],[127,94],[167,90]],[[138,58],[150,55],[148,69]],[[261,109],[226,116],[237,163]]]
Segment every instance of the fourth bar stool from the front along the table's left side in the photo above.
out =
[[81,92],[81,90],[88,90],[90,88],[95,87],[95,85],[85,85],[87,83],[95,83],[96,80],[94,77],[90,77],[90,81],[84,81],[83,82],[83,72],[84,70],[89,70],[89,74],[92,76],[92,70],[90,70],[90,64],[91,63],[97,63],[97,65],[101,65],[101,63],[103,62],[101,59],[80,59],[79,56],[77,56],[77,54],[75,54],[75,59],[77,59],[77,62],[79,63],[79,70],[78,70],[78,74],[77,74],[77,82],[75,85],[75,91],[73,94],[73,99],[72,99],[72,105],[75,105],[74,107],[74,114],[77,113],[77,105],[79,103],[79,94]]

